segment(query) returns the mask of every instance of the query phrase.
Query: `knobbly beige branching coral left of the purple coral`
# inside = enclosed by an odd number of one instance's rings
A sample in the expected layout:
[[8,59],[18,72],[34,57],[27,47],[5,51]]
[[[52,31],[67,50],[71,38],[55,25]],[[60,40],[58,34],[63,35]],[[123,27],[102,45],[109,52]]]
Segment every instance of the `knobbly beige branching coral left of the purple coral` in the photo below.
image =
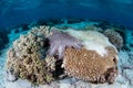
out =
[[14,41],[8,51],[7,75],[11,73],[17,78],[28,79],[33,84],[54,80],[52,72],[57,59],[47,55],[48,34],[47,26],[33,28],[27,35]]

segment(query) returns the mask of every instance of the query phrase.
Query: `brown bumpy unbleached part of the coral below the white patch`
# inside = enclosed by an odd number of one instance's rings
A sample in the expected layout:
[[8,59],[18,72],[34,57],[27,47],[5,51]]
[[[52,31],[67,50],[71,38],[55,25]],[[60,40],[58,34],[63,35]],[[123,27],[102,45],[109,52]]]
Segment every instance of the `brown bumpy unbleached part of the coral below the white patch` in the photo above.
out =
[[116,52],[106,47],[108,55],[102,57],[95,51],[68,47],[64,53],[63,67],[69,76],[92,82],[113,82],[116,75]]

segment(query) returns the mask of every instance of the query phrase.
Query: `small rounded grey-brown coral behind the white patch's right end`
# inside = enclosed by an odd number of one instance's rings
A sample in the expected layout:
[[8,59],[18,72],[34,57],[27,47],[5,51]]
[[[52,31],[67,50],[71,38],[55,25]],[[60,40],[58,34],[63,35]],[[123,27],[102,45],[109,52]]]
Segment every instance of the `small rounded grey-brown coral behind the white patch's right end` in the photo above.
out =
[[112,29],[108,29],[104,31],[104,35],[109,37],[109,41],[117,48],[121,50],[123,46],[123,37],[120,33],[115,32]]

